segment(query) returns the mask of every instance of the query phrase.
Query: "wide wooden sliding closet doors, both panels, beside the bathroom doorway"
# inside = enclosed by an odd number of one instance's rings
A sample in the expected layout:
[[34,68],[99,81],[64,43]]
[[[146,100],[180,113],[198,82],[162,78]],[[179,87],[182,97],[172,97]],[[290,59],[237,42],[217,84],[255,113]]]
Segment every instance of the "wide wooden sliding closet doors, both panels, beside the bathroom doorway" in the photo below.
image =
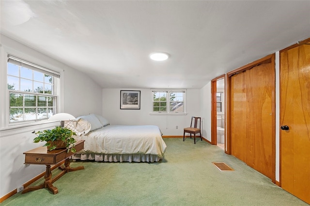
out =
[[274,63],[231,78],[232,155],[275,181]]

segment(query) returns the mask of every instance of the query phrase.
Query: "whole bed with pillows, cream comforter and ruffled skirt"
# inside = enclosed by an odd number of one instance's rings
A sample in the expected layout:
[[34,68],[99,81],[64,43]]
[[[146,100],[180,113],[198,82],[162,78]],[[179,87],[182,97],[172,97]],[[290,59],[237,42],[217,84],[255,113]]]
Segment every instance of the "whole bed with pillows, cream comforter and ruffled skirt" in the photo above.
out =
[[72,156],[75,160],[103,162],[159,162],[166,144],[155,125],[110,125],[102,116],[78,117],[65,126],[85,140],[84,149]]

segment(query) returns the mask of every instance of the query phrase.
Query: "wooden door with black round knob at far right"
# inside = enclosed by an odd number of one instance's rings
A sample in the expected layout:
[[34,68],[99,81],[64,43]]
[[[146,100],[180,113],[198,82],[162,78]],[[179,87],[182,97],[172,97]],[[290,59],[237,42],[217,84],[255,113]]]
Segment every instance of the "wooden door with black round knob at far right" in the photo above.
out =
[[280,52],[281,187],[310,204],[310,45]]

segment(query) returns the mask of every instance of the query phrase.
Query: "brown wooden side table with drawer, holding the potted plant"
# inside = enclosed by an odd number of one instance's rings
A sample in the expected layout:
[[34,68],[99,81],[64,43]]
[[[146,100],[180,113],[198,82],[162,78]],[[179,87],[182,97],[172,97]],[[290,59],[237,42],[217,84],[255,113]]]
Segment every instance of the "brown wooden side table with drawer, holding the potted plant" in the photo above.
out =
[[[85,140],[79,140],[75,143],[75,148],[78,151],[82,150],[84,148],[84,141]],[[37,147],[35,149],[31,149],[27,152],[24,152],[25,154],[25,164],[45,164],[47,169],[45,171],[45,181],[41,185],[38,186],[28,186],[25,188],[22,193],[26,193],[28,191],[34,191],[39,190],[42,188],[47,188],[53,194],[58,193],[58,189],[53,186],[53,183],[62,177],[67,172],[73,172],[77,170],[83,170],[83,166],[78,166],[76,168],[70,167],[70,160],[69,158],[75,154],[75,152],[67,152],[67,149],[54,149],[52,151],[47,150],[47,147]],[[59,169],[62,170],[61,173],[59,173],[57,176],[52,178],[52,173],[50,171],[50,165],[57,164],[59,162],[62,162],[64,160],[64,167],[60,166]]]

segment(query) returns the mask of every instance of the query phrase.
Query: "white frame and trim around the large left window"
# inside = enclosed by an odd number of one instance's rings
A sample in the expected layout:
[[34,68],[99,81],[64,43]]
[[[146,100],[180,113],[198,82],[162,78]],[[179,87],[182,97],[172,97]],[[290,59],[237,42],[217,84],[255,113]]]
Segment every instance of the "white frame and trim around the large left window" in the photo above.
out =
[[[62,97],[63,97],[63,87],[61,87],[62,82],[63,82],[63,78],[62,76],[62,70],[55,68],[54,66],[52,66],[51,64],[48,64],[44,61],[42,61],[41,59],[37,59],[34,57],[31,57],[29,55],[25,55],[22,52],[19,52],[15,49],[10,48],[10,51],[5,51],[5,49],[3,48],[3,45],[0,45],[0,59],[1,59],[1,64],[0,64],[0,92],[1,92],[1,100],[0,100],[0,131],[2,131],[1,136],[2,135],[6,135],[6,133],[10,133],[10,134],[14,134],[14,130],[12,130],[12,132],[9,132],[9,130],[11,129],[17,129],[17,128],[26,128],[29,126],[38,126],[40,124],[52,124],[51,122],[48,122],[47,119],[35,119],[35,120],[31,120],[31,121],[22,121],[22,122],[11,122],[9,123],[9,118],[10,118],[10,97],[9,97],[9,90],[8,90],[8,82],[7,82],[7,65],[8,65],[8,57],[9,56],[14,56],[16,57],[16,59],[19,60],[24,60],[30,64],[32,64],[32,66],[36,67],[38,66],[38,68],[45,70],[45,71],[49,71],[53,74],[57,74],[59,75],[59,78],[57,80],[57,83],[55,84],[55,94],[57,94],[57,98],[56,98],[56,104],[57,104],[57,111],[55,110],[55,112],[59,113],[62,112],[62,108],[63,108],[63,102],[61,101]],[[13,52],[12,52],[12,51]],[[16,52],[14,52],[16,51]],[[15,55],[14,53],[16,53],[17,55]],[[22,56],[27,56],[27,58],[20,58]],[[27,59],[27,60],[25,60]],[[30,59],[30,60],[28,60]],[[34,59],[34,60],[33,60]],[[37,63],[33,63],[33,62],[39,62],[41,65],[47,65],[49,68],[40,66],[40,64]],[[32,68],[31,68],[32,69]],[[46,72],[43,72],[46,73]],[[48,74],[48,73],[47,73]],[[40,95],[40,93],[37,93]],[[53,123],[54,124],[54,123]],[[24,131],[25,129],[23,129],[22,131]],[[4,132],[7,131],[7,132]],[[18,130],[18,132],[20,132],[21,130]],[[17,131],[16,131],[17,132]]]

